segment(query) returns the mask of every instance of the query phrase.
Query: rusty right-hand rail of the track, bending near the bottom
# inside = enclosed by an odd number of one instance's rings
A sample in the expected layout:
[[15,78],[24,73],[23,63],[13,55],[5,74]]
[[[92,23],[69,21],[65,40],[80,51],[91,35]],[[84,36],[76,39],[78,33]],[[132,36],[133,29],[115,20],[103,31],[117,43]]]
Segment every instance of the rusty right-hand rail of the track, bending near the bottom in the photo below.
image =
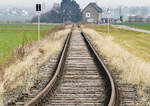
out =
[[83,36],[85,42],[87,43],[87,45],[89,46],[89,48],[91,49],[91,51],[93,52],[95,57],[97,58],[96,61],[97,61],[98,65],[100,66],[102,71],[104,71],[104,73],[105,73],[105,75],[109,81],[108,86],[110,86],[111,89],[109,90],[110,94],[108,94],[108,95],[110,95],[110,97],[106,101],[105,105],[106,106],[119,106],[119,90],[118,90],[116,83],[113,80],[113,77],[112,77],[110,71],[105,66],[103,60],[101,59],[101,57],[98,55],[98,53],[96,52],[96,50],[92,46],[92,44],[89,41],[89,39],[87,38],[86,34],[84,32],[81,32],[81,35]]

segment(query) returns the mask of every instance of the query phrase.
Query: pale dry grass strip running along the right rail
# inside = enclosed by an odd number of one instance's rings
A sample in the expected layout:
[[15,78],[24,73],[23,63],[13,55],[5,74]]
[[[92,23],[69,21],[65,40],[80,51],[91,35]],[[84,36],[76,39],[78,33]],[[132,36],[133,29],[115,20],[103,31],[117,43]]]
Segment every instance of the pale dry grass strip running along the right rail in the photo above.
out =
[[121,83],[150,86],[150,63],[130,54],[114,43],[111,36],[102,36],[92,29],[83,29],[92,39],[100,55],[121,72]]

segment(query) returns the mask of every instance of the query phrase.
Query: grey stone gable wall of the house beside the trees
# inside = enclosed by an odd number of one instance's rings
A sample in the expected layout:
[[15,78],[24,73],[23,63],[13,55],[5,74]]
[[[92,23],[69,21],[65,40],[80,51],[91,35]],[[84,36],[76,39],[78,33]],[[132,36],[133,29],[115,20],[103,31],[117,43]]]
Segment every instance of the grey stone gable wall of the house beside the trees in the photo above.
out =
[[[90,13],[90,17],[87,17],[86,14]],[[90,24],[98,24],[101,20],[102,14],[98,13],[92,6],[87,6],[82,12],[83,21]]]

